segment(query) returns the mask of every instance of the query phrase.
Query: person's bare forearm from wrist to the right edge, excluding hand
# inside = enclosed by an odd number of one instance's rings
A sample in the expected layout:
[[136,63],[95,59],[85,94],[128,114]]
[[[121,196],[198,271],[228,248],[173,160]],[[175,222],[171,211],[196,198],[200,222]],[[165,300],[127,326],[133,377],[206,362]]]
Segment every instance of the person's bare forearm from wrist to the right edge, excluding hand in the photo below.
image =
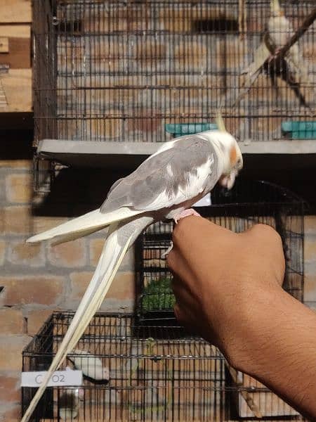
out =
[[285,292],[271,300],[253,312],[246,353],[233,363],[315,421],[316,314]]

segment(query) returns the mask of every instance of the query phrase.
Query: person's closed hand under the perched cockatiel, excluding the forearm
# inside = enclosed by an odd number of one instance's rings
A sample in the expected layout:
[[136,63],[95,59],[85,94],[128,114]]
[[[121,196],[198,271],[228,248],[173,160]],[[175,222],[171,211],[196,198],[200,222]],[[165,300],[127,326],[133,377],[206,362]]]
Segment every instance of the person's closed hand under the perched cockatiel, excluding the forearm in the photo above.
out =
[[186,217],[173,231],[167,264],[174,274],[180,324],[242,367],[251,357],[251,338],[256,341],[251,333],[261,328],[275,298],[284,293],[284,254],[277,232],[257,224],[235,234],[204,218]]

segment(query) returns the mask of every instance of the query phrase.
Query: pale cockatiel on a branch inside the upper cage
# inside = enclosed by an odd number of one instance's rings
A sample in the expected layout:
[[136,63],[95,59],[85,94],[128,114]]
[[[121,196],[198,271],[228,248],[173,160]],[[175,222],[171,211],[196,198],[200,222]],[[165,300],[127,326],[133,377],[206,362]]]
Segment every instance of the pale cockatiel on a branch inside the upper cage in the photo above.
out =
[[265,67],[266,72],[272,77],[282,77],[291,89],[294,89],[301,104],[310,108],[308,101],[299,90],[303,86],[312,86],[312,81],[308,75],[308,66],[303,60],[303,56],[298,46],[298,42],[293,44],[285,53],[284,58],[274,60],[273,51],[277,53],[287,44],[294,35],[294,28],[291,21],[284,15],[284,11],[279,6],[279,0],[270,1],[270,18],[263,41],[254,53],[253,62],[242,71],[246,74],[244,86],[239,92],[239,96],[232,103],[235,106],[240,101]]

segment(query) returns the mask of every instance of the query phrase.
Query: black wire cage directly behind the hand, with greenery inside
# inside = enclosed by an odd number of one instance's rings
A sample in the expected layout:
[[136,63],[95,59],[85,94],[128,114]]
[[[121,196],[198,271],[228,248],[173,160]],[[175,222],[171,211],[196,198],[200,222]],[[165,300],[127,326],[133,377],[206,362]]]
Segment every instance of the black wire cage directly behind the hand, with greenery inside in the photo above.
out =
[[[303,200],[265,181],[237,179],[231,191],[216,186],[211,193],[211,206],[198,207],[197,211],[237,233],[256,223],[274,227],[282,238],[286,261],[283,287],[303,302]],[[136,313],[142,324],[153,321],[174,324],[172,275],[164,256],[170,246],[172,229],[172,223],[152,224],[136,244]]]

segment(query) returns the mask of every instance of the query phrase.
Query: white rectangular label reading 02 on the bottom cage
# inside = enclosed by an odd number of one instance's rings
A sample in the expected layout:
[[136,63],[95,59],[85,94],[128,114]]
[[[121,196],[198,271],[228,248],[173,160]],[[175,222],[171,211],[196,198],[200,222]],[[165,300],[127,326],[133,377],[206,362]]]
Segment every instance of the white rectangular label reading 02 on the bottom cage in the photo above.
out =
[[[22,372],[21,387],[39,387],[47,371]],[[55,371],[48,382],[48,387],[62,385],[64,387],[82,384],[82,371]]]

